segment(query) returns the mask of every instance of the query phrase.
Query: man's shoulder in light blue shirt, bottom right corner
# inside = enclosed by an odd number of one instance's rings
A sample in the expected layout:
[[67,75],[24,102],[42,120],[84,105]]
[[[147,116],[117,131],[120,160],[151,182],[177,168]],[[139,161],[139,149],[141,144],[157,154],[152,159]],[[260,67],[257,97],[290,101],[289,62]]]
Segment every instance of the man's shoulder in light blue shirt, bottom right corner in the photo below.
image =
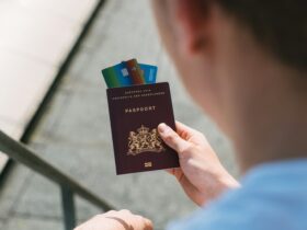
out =
[[263,166],[170,230],[307,229],[307,161]]

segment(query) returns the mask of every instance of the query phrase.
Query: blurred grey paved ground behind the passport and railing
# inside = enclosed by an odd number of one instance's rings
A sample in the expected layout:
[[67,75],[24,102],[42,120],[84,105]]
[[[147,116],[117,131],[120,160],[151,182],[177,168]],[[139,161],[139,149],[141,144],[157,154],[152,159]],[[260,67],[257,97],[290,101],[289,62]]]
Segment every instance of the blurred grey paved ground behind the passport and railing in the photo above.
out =
[[[118,209],[145,215],[156,229],[163,229],[170,219],[196,209],[174,179],[163,171],[115,175],[100,70],[132,57],[159,67],[159,81],[171,84],[175,118],[202,130],[236,173],[229,143],[186,95],[144,0],[112,0],[102,9],[36,128],[31,147]],[[77,205],[79,221],[100,211],[80,199]],[[60,218],[59,188],[21,165],[14,166],[0,194],[0,229],[62,229]]]

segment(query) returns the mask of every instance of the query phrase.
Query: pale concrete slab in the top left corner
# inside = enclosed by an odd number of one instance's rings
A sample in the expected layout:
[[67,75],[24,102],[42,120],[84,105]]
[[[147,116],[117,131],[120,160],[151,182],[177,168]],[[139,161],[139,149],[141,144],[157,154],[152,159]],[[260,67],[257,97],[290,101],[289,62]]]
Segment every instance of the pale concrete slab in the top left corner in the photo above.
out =
[[[0,129],[20,139],[99,0],[0,2]],[[0,153],[0,173],[8,157]]]

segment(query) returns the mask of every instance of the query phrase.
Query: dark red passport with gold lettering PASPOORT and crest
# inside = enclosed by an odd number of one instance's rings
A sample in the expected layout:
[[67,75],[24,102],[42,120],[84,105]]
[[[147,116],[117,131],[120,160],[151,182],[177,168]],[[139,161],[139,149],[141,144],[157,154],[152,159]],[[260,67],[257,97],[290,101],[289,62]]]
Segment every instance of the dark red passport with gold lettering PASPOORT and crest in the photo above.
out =
[[175,130],[167,82],[106,90],[116,174],[178,168],[174,150],[159,137],[166,123]]

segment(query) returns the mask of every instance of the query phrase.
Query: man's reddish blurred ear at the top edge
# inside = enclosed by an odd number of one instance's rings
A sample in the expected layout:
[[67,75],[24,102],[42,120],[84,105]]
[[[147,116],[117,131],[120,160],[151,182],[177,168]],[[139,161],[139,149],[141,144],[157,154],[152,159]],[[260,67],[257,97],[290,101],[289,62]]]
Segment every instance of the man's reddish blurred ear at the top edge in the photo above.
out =
[[175,33],[183,55],[198,54],[209,33],[209,3],[206,0],[173,0]]

